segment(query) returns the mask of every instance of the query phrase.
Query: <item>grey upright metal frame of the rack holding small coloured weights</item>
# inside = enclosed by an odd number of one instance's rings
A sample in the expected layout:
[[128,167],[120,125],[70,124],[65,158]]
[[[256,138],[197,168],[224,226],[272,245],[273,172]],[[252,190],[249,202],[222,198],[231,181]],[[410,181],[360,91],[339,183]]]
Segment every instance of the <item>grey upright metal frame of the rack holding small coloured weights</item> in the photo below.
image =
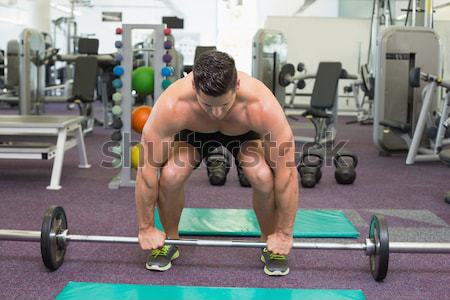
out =
[[[123,58],[120,62],[124,73],[121,77],[123,85],[121,88],[117,89],[118,93],[122,94],[122,122],[123,126],[120,129],[122,135],[121,141],[121,153],[122,159],[128,160],[123,161],[121,164],[120,172],[109,182],[108,188],[118,189],[120,187],[134,187],[135,180],[132,179],[132,168],[129,163],[130,159],[130,148],[131,148],[131,111],[134,104],[134,98],[131,94],[132,84],[131,77],[133,74],[133,44],[132,44],[132,31],[135,29],[148,29],[154,31],[154,56],[151,60],[152,68],[155,70],[155,84],[154,84],[154,99],[158,99],[163,92],[163,76],[159,72],[163,67],[166,66],[164,61],[161,59],[166,50],[164,49],[164,29],[165,24],[123,24],[122,25],[122,42],[119,43],[121,47],[118,48],[118,52]],[[116,42],[117,43],[117,42]],[[117,44],[116,44],[117,45]]]

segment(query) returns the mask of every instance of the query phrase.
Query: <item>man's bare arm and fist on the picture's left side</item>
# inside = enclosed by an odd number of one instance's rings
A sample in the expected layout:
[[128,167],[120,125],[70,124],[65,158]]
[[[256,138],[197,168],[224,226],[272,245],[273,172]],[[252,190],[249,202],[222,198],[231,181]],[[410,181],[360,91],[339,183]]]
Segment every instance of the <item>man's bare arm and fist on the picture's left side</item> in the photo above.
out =
[[158,200],[159,169],[167,161],[179,124],[173,118],[171,100],[160,98],[142,132],[143,165],[136,176],[136,210],[139,241],[143,249],[162,246],[165,235],[155,229],[154,209]]

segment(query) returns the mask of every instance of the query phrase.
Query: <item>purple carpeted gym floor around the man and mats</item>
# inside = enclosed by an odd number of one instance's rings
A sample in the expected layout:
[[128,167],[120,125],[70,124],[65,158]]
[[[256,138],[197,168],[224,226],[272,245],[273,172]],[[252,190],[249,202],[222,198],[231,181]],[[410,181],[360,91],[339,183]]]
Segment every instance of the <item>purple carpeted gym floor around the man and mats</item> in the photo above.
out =
[[[440,163],[404,164],[405,156],[380,157],[370,126],[339,122],[339,139],[351,139],[358,155],[358,178],[351,186],[334,180],[334,168],[323,168],[321,183],[302,189],[300,207],[343,209],[366,237],[372,213],[387,214],[391,240],[450,241],[450,169]],[[86,136],[91,169],[78,169],[76,150],[66,153],[60,191],[47,191],[53,161],[0,161],[0,228],[40,230],[46,208],[62,205],[74,234],[137,234],[134,190],[109,190],[116,170],[100,167],[101,145],[111,131],[96,128]],[[204,167],[186,187],[187,207],[249,208],[251,189],[241,188],[235,169],[224,187],[209,186]],[[384,283],[369,272],[361,252],[301,251],[290,256],[291,273],[264,275],[257,249],[182,247],[174,267],[165,273],[144,268],[146,253],[137,245],[71,244],[63,266],[49,272],[41,262],[39,243],[0,241],[0,299],[52,299],[68,281],[196,285],[362,289],[368,299],[450,299],[448,255],[392,254]]]

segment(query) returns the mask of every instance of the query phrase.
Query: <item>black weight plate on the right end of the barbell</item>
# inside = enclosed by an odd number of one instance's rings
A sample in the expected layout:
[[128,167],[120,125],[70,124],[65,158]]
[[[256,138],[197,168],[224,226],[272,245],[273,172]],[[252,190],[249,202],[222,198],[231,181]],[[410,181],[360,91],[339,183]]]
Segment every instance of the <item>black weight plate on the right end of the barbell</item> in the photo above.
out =
[[384,216],[372,216],[369,238],[375,244],[375,251],[370,255],[370,272],[376,281],[383,281],[389,267],[389,232]]

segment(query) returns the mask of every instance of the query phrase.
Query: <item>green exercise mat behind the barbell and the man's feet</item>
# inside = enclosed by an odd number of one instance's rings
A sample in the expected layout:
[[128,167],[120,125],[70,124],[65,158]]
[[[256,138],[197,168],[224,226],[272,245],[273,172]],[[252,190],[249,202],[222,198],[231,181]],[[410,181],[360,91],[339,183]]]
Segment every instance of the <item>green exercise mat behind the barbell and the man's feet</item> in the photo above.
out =
[[[157,210],[156,227],[162,229]],[[259,236],[252,209],[185,208],[181,215],[180,235]],[[352,222],[340,210],[299,210],[295,218],[296,238],[358,238]]]

